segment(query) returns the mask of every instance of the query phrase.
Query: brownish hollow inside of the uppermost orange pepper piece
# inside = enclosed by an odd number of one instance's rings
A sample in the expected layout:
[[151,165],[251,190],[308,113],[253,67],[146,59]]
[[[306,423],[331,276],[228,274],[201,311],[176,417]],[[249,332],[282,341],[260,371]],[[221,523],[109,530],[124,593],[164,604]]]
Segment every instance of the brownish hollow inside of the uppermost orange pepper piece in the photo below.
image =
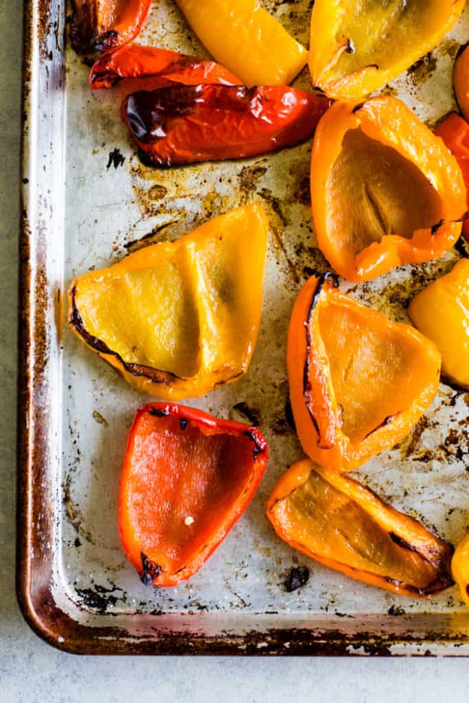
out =
[[347,253],[389,234],[411,238],[442,219],[442,200],[425,174],[359,127],[345,133],[326,193],[328,226]]

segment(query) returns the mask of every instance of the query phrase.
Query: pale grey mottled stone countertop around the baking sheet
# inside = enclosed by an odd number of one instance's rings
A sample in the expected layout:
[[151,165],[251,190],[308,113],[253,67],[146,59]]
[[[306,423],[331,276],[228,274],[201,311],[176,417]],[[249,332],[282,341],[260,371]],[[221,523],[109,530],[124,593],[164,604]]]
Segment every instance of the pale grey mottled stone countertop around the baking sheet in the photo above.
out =
[[0,699],[5,703],[467,700],[465,659],[75,657],[27,627],[15,598],[15,373],[21,2],[0,2]]

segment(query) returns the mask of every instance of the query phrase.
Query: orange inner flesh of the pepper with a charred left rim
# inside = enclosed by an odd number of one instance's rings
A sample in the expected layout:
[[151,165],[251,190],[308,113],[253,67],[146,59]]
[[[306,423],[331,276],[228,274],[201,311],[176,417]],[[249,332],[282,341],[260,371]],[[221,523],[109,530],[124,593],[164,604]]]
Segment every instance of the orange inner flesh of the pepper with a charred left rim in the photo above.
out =
[[352,441],[409,408],[428,384],[433,360],[415,354],[415,342],[392,325],[378,329],[375,318],[331,301],[319,309],[319,329],[342,406],[342,432]]

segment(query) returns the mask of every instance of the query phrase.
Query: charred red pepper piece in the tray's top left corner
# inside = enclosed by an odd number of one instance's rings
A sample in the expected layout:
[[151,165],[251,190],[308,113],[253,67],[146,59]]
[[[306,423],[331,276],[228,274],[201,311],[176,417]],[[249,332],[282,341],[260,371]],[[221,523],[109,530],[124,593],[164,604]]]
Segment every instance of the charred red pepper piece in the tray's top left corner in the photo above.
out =
[[107,51],[139,34],[151,0],[72,0],[72,47],[77,53]]

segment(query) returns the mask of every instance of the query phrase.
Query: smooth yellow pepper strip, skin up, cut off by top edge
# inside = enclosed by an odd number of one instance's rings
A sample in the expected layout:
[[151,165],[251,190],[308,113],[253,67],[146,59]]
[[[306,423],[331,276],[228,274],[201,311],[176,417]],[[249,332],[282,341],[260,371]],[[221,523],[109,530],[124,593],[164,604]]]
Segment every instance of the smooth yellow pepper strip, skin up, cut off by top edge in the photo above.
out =
[[308,52],[257,0],[176,0],[214,58],[248,86],[288,84]]

